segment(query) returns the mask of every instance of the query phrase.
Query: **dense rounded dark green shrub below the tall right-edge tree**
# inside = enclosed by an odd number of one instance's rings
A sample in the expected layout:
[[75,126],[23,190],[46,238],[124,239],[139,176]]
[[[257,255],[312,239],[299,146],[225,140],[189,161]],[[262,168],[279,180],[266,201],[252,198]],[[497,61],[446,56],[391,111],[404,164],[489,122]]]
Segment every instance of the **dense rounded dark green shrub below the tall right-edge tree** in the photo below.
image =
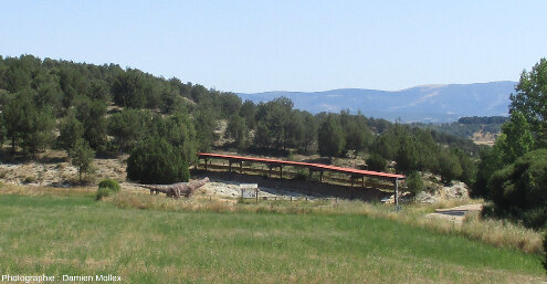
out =
[[[490,214],[515,219],[530,228],[547,221],[547,149],[530,151],[492,175]],[[484,211],[488,213],[488,211]]]

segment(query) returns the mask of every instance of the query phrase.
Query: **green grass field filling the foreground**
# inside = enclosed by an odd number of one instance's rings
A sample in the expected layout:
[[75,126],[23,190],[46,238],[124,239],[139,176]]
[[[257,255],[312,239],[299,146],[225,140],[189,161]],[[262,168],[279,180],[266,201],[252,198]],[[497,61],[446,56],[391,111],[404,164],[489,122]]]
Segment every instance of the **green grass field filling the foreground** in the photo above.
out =
[[0,196],[0,274],[124,283],[539,283],[538,254],[361,214],[165,212]]

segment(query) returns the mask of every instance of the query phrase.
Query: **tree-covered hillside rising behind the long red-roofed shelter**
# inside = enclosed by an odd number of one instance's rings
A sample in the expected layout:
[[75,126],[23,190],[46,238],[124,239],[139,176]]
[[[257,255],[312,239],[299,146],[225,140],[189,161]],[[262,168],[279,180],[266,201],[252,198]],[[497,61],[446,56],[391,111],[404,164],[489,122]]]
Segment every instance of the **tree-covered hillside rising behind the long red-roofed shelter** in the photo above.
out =
[[[285,97],[254,104],[233,93],[115,64],[32,55],[0,57],[0,105],[2,141],[11,146],[11,155],[30,157],[55,147],[85,161],[164,145],[169,155],[180,155],[180,161],[170,160],[187,168],[198,151],[213,147],[271,156],[318,151],[325,157],[361,156],[375,170],[386,170],[395,160],[400,172],[428,170],[446,181],[472,182],[476,169],[470,155],[478,152],[467,139],[360,113],[312,115]],[[225,137],[214,132],[220,122],[227,124]],[[220,138],[228,143],[215,145]]]

